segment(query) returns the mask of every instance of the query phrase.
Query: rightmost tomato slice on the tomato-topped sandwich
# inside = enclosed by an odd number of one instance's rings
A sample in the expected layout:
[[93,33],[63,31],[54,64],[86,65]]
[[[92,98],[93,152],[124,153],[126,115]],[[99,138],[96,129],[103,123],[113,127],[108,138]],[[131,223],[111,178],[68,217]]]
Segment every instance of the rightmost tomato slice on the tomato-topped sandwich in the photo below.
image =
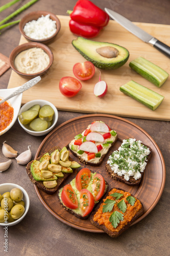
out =
[[106,183],[101,174],[95,174],[93,177],[92,191],[95,201],[99,201],[105,192]]

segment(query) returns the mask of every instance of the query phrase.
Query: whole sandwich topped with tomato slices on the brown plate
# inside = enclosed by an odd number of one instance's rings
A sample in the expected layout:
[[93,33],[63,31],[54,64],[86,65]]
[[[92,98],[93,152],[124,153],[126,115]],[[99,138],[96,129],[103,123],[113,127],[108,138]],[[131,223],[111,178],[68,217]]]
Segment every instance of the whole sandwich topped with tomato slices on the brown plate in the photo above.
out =
[[83,168],[75,179],[59,189],[58,199],[70,214],[79,219],[87,219],[94,205],[103,198],[107,191],[108,183],[101,174]]

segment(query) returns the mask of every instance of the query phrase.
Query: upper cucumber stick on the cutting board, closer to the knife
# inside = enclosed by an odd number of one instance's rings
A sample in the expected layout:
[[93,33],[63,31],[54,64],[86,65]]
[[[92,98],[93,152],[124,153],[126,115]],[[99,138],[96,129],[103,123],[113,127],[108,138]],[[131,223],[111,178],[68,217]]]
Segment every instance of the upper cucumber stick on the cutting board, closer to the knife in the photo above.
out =
[[132,60],[129,66],[157,87],[161,87],[169,76],[166,71],[142,57]]

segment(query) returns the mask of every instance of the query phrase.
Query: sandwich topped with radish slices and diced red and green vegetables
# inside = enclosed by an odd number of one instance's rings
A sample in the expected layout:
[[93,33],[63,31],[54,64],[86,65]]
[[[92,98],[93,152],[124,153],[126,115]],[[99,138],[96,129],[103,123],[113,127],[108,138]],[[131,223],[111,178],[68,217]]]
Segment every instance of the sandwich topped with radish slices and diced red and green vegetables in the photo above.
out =
[[98,166],[116,140],[117,133],[106,123],[94,121],[86,130],[77,134],[68,146],[80,162]]

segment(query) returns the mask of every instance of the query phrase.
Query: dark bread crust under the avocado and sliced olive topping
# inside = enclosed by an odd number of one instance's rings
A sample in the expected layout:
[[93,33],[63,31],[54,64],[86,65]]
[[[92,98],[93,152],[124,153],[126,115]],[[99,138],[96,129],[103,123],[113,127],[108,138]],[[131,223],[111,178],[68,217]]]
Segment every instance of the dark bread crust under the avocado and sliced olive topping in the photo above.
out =
[[[51,148],[50,150],[48,150],[47,152],[45,152],[44,154],[49,153],[49,154],[51,155],[55,150],[61,151],[61,148],[58,147],[58,146],[55,146],[55,147]],[[42,154],[41,156],[39,156],[38,158],[36,158],[36,160],[39,161],[39,160],[41,159],[41,157],[42,157],[44,154]],[[34,160],[35,160],[35,159],[34,159]],[[27,164],[27,167],[26,167],[27,174],[28,174],[28,176],[29,176],[31,182],[34,183],[34,184],[35,184],[37,187],[39,187],[40,189],[42,189],[45,193],[47,193],[47,194],[54,194],[54,193],[57,191],[58,187],[61,185],[61,183],[70,175],[70,173],[63,173],[64,177],[62,177],[62,178],[57,178],[57,186],[55,186],[54,188],[47,188],[47,187],[44,186],[43,181],[36,181],[36,180],[34,180],[34,178],[33,178],[33,176],[32,176],[32,173],[31,173],[31,164],[32,164],[32,162],[33,162],[34,160],[32,160],[31,162],[29,162],[29,163]],[[72,159],[71,159],[70,157],[69,157],[69,161],[72,161]],[[74,169],[73,169],[73,170],[74,170]]]

